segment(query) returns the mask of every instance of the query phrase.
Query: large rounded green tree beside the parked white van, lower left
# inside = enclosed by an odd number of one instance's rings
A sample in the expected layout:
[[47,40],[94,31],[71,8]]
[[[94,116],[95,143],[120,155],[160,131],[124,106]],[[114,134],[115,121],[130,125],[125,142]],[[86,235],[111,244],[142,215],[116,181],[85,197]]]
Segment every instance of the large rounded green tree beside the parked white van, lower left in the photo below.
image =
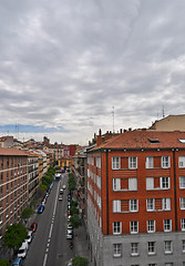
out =
[[7,232],[3,236],[4,245],[9,248],[13,248],[13,252],[18,249],[28,235],[27,228],[23,224],[12,224],[7,227]]

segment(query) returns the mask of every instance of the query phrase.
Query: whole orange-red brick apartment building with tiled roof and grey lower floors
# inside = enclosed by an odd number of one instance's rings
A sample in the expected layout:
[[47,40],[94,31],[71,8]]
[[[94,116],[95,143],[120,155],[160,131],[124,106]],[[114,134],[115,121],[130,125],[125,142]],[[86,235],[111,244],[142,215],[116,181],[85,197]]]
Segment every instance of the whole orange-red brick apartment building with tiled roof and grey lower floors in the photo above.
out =
[[185,265],[185,132],[127,131],[88,152],[95,266]]

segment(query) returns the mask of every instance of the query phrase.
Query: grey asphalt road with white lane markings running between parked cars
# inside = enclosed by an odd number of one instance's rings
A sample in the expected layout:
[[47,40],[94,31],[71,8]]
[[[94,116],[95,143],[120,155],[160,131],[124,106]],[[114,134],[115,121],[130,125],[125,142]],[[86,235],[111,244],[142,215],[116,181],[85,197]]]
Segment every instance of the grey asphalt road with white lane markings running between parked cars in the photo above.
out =
[[63,184],[68,186],[68,173],[62,174],[61,181],[54,182],[44,212],[34,217],[38,229],[23,266],[64,266],[74,256],[70,239],[65,237],[68,190],[64,190],[63,201],[59,201],[59,190]]

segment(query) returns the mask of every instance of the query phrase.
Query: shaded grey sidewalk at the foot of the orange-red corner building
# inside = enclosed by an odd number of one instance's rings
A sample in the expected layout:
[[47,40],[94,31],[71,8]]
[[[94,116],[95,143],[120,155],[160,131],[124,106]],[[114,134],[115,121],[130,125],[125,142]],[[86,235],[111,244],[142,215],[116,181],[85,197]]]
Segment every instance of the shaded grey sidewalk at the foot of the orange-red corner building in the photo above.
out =
[[74,236],[74,250],[75,256],[86,257],[89,259],[89,266],[93,266],[90,257],[89,243],[86,239],[86,229],[82,225],[75,229]]

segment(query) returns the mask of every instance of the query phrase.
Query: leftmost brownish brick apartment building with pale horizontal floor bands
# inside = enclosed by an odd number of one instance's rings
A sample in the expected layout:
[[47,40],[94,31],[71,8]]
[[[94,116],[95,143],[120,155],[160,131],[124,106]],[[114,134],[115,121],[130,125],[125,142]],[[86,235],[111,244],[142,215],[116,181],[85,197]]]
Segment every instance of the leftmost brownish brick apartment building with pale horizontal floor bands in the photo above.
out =
[[28,202],[28,154],[0,147],[0,238],[20,219]]

